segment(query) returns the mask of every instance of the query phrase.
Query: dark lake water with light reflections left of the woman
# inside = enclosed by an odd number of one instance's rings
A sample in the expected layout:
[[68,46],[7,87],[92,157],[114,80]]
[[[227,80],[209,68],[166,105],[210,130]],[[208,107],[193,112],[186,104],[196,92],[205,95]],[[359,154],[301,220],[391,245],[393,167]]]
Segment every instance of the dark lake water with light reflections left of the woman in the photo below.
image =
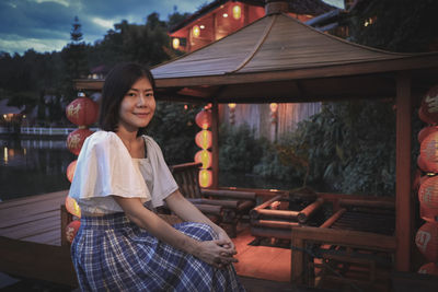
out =
[[0,199],[68,189],[66,171],[76,159],[66,139],[0,139]]

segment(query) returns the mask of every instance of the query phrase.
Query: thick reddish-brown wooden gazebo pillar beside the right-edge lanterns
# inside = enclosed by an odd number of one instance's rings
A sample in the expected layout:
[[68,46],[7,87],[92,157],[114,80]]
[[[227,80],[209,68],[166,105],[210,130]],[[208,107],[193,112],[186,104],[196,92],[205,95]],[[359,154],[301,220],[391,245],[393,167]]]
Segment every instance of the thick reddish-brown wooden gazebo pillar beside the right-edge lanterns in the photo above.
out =
[[412,105],[411,75],[396,78],[396,177],[395,177],[395,269],[410,271],[413,242],[413,203],[411,198]]

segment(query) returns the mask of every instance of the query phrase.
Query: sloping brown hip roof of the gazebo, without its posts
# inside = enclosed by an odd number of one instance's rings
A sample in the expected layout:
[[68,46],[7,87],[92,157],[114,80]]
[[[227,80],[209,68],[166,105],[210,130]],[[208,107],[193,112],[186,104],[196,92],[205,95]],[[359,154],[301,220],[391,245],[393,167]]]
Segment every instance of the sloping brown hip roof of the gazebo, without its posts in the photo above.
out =
[[416,72],[418,85],[426,90],[437,80],[423,73],[437,66],[438,54],[396,54],[356,45],[281,13],[157,66],[152,73],[159,95],[171,100],[306,102],[394,96],[393,78],[382,77],[404,70],[422,69]]

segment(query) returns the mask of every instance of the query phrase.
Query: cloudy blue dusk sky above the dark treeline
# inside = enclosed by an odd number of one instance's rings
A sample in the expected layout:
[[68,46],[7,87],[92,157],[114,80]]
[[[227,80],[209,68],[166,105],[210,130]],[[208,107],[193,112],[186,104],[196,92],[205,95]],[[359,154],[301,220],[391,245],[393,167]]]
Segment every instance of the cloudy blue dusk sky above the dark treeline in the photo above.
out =
[[[0,0],[0,52],[61,50],[70,42],[77,15],[83,39],[94,44],[122,20],[143,24],[152,12],[165,21],[176,9],[194,13],[212,0]],[[342,7],[343,0],[326,0]]]

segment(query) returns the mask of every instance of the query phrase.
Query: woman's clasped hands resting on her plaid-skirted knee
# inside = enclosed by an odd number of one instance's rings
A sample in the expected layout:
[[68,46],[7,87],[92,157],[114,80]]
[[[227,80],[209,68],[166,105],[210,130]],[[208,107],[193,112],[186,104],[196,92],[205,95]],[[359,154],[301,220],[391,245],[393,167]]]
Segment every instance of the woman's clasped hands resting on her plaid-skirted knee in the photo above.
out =
[[198,248],[194,256],[216,268],[223,268],[232,262],[238,262],[238,259],[233,258],[235,250],[226,247],[227,245],[229,243],[226,240],[198,242]]

